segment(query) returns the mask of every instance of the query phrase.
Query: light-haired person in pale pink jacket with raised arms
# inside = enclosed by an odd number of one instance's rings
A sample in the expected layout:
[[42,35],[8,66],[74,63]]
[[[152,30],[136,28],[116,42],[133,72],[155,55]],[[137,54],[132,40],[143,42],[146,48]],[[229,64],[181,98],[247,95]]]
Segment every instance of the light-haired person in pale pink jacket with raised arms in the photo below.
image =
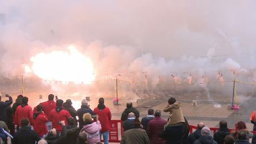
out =
[[85,125],[82,127],[81,132],[86,132],[88,135],[88,144],[95,144],[100,142],[100,130],[101,122],[98,120],[98,116],[94,118],[96,122],[92,122],[92,116],[90,113],[85,113],[84,116]]

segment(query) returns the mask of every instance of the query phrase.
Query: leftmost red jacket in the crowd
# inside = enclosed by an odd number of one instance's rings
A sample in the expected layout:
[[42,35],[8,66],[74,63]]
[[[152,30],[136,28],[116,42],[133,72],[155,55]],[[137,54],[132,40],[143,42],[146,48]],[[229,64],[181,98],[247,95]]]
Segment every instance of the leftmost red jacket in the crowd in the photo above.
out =
[[21,126],[20,122],[23,118],[28,118],[32,125],[32,115],[32,108],[29,105],[19,105],[14,115],[14,125]]

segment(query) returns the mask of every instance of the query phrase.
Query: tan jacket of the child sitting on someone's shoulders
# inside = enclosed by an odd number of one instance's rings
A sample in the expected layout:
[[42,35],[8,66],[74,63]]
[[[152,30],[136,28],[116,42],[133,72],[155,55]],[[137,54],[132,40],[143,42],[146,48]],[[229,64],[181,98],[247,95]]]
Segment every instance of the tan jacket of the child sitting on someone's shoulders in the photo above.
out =
[[179,102],[175,102],[171,105],[166,105],[163,109],[164,112],[170,112],[170,117],[167,125],[174,125],[179,122],[185,122],[183,113],[181,111],[181,104]]

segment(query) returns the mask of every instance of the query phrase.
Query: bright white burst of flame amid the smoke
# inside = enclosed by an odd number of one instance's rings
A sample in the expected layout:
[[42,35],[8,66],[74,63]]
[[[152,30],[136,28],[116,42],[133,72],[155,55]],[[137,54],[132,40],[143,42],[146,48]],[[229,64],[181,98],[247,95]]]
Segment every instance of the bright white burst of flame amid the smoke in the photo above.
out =
[[75,46],[68,46],[69,52],[52,51],[39,53],[31,58],[32,73],[42,79],[63,82],[91,83],[95,79],[93,63]]

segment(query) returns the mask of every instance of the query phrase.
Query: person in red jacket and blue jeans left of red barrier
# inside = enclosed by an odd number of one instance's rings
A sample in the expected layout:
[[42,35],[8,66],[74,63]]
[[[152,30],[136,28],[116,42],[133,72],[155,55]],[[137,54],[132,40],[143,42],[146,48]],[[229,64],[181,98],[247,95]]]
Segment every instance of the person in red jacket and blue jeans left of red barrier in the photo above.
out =
[[111,112],[108,107],[104,105],[104,98],[98,99],[98,106],[94,108],[93,112],[98,115],[98,119],[101,122],[101,135],[103,135],[104,144],[109,143],[109,121],[111,120]]

